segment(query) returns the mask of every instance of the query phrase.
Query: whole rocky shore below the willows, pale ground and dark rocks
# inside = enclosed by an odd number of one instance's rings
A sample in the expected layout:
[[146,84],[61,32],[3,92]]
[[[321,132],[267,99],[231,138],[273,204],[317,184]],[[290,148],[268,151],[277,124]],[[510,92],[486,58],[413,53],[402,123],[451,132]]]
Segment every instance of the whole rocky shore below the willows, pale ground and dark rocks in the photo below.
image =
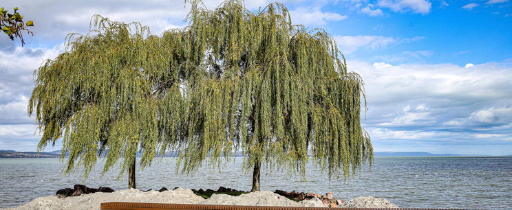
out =
[[[236,195],[236,196],[233,196]],[[291,199],[291,200],[290,200]],[[60,189],[56,196],[40,197],[12,209],[100,209],[102,202],[155,202],[200,205],[250,205],[281,207],[345,207],[345,208],[398,208],[382,198],[359,197],[348,202],[332,197],[297,191],[257,191],[246,192],[220,187],[195,190],[175,188],[156,191],[149,189],[124,189],[114,191],[109,187],[89,188],[75,185],[74,188]]]

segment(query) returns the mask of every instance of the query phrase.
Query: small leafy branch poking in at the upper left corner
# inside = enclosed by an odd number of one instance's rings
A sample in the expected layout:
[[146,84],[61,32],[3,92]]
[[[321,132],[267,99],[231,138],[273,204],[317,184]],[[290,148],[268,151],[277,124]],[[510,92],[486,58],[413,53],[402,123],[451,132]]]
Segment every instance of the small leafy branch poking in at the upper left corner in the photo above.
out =
[[21,46],[25,45],[21,32],[26,31],[28,34],[32,34],[32,32],[27,29],[29,26],[34,26],[34,22],[27,21],[27,23],[23,23],[23,16],[19,14],[18,8],[14,8],[13,14],[8,13],[8,10],[0,8],[0,27],[2,31],[6,33],[11,40],[20,38]]

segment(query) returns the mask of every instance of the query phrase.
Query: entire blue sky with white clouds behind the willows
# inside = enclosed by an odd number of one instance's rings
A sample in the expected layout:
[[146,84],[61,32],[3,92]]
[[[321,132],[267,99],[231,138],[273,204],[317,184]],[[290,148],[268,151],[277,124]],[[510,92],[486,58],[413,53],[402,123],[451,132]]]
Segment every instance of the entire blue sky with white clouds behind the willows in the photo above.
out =
[[[204,1],[215,8],[222,1]],[[257,10],[272,1],[246,1]],[[376,152],[512,154],[512,1],[281,1],[295,24],[323,27],[350,71],[366,83],[363,120]],[[34,151],[27,115],[33,71],[63,50],[69,33],[87,33],[93,14],[138,21],[153,34],[184,27],[183,0],[17,1],[33,20],[26,45],[0,34],[0,149]],[[57,143],[47,151],[59,150]]]

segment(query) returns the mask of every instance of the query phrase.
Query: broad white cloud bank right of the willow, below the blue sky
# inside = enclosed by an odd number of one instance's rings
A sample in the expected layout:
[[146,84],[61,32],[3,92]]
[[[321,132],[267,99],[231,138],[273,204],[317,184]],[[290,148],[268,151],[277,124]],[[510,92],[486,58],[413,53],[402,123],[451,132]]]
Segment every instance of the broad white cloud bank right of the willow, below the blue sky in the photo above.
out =
[[[382,68],[383,66],[385,68]],[[436,98],[432,102],[469,100],[464,101],[468,103],[467,105],[473,105],[474,100],[491,102],[512,99],[512,86],[509,85],[512,68],[500,67],[493,63],[474,65],[466,69],[451,64],[369,65],[349,60],[348,69],[353,69],[363,76],[369,100],[377,100],[379,104],[393,103],[397,100],[428,100],[431,97]],[[442,98],[446,98],[447,101]],[[429,104],[425,106],[432,108]]]

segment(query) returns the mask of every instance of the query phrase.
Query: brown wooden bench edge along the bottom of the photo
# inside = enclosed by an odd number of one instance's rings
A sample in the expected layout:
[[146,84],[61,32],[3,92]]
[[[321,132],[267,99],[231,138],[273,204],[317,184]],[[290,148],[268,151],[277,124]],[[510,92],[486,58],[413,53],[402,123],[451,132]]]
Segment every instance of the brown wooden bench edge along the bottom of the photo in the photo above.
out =
[[[361,208],[319,208],[319,207],[262,207],[262,206],[233,206],[233,205],[185,205],[185,204],[170,204],[170,203],[146,203],[146,202],[104,202],[101,204],[102,210],[190,210],[190,209],[211,209],[211,210],[328,210],[328,209],[339,209],[339,210],[359,210]],[[383,208],[369,208],[367,210],[389,210]],[[408,209],[404,209],[408,210]],[[412,210],[412,209],[411,209]],[[429,210],[429,209],[414,209],[414,210]],[[438,209],[444,210],[444,209]]]

